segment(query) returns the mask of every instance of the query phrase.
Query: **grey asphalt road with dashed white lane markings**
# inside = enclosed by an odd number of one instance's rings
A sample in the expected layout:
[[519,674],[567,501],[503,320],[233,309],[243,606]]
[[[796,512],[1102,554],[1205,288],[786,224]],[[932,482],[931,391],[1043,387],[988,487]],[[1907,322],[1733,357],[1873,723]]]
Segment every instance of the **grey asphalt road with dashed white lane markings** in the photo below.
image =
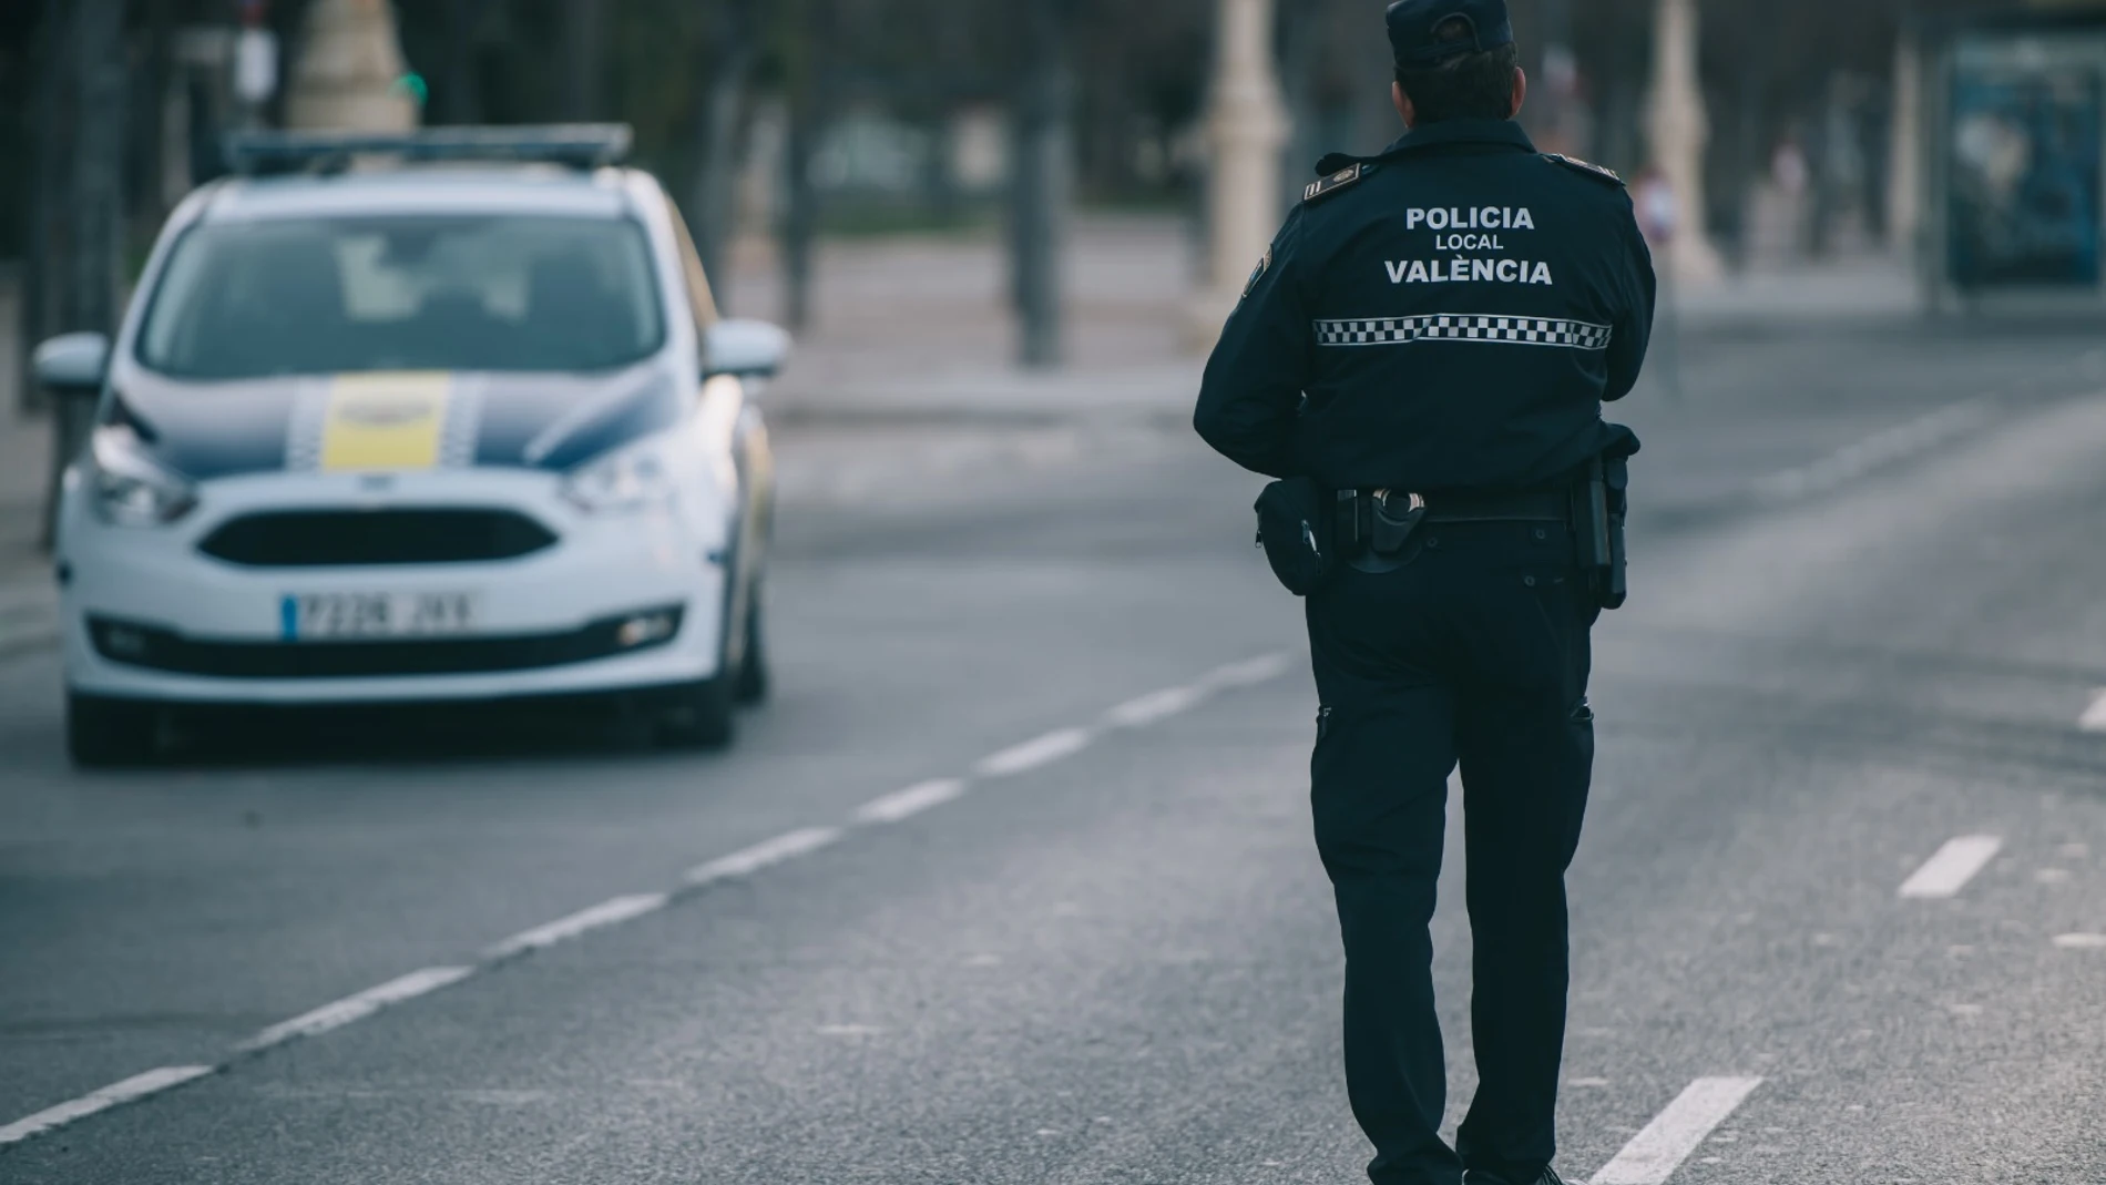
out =
[[[2106,1181],[2100,343],[1714,335],[1626,408],[1575,1181]],[[434,718],[84,777],[0,659],[0,1139],[213,1069],[0,1181],[1360,1179],[1257,482],[1171,404],[781,450],[727,756]]]

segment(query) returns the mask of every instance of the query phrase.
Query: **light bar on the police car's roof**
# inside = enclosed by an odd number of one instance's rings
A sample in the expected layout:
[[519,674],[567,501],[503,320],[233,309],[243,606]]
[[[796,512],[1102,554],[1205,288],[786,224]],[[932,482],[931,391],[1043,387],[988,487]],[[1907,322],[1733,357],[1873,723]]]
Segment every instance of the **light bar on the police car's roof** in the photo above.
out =
[[415,133],[230,133],[227,168],[244,177],[337,173],[354,158],[404,162],[491,160],[602,168],[630,154],[628,124],[425,128]]

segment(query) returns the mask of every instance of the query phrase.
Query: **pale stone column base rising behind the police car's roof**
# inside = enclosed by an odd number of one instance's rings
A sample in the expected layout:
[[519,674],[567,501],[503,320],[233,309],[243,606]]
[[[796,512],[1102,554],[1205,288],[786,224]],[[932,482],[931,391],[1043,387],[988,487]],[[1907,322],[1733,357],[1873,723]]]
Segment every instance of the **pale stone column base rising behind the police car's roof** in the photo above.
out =
[[284,122],[297,130],[402,133],[417,103],[402,91],[409,72],[388,0],[314,0]]

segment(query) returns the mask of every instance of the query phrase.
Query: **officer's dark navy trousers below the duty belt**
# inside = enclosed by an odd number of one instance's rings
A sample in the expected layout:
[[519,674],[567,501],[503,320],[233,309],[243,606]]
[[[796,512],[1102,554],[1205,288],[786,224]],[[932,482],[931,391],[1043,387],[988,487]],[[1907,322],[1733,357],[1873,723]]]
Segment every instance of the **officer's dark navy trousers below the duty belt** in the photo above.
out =
[[[1422,524],[1398,570],[1310,598],[1316,844],[1346,939],[1346,1086],[1369,1177],[1531,1185],[1554,1151],[1565,869],[1580,844],[1596,610],[1556,524]],[[1478,1090],[1457,1149],[1434,1019],[1434,882],[1462,764]]]

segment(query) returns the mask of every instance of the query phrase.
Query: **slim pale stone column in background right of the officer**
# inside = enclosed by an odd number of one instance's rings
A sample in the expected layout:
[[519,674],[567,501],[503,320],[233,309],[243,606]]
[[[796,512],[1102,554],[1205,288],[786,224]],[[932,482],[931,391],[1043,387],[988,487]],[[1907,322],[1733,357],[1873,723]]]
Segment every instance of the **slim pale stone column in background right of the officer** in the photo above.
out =
[[1668,250],[1674,278],[1708,284],[1725,274],[1704,227],[1704,145],[1710,116],[1697,80],[1697,15],[1691,0],[1660,0],[1653,21],[1653,93],[1647,112],[1653,168],[1674,189],[1676,234]]

